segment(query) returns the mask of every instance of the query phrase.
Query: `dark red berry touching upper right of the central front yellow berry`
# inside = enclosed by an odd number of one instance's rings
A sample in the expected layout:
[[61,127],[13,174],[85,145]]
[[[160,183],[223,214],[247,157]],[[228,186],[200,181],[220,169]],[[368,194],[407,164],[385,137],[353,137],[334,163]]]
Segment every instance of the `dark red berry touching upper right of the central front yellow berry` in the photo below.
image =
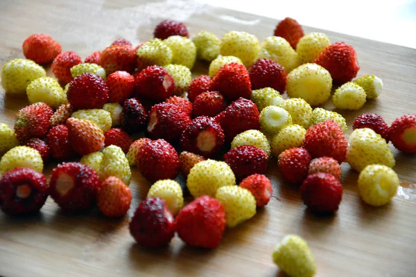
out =
[[243,179],[253,174],[263,174],[267,169],[268,154],[252,145],[232,148],[224,155],[224,161],[236,175]]

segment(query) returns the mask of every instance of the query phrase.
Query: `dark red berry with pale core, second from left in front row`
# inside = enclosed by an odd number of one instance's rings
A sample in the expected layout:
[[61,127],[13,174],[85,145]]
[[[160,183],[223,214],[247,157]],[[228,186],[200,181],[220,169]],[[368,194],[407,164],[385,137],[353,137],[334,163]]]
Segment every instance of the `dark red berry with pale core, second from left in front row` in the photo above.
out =
[[83,211],[94,203],[100,178],[83,163],[61,163],[52,170],[49,193],[64,211]]

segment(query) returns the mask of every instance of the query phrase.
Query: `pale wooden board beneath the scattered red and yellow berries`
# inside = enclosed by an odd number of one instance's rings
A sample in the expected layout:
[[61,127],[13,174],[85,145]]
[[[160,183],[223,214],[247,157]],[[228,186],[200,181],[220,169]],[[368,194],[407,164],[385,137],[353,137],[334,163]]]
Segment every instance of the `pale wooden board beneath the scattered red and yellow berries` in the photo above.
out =
[[[76,51],[84,58],[121,37],[135,45],[144,42],[162,19],[186,22],[191,34],[206,29],[221,37],[228,30],[245,30],[261,40],[272,35],[277,23],[185,1],[0,1],[0,66],[23,57],[21,43],[32,33],[47,33],[63,51]],[[348,135],[352,120],[363,112],[381,114],[388,124],[416,112],[415,49],[327,33],[331,42],[356,48],[358,75],[372,73],[384,82],[383,94],[360,111],[338,111],[347,118]],[[196,71],[206,73],[207,64],[197,64]],[[26,99],[10,98],[0,89],[2,123],[12,126],[16,111],[25,105]],[[220,247],[212,251],[187,247],[177,237],[166,249],[135,244],[128,221],[150,184],[133,168],[134,201],[128,217],[121,220],[108,220],[97,211],[65,215],[51,199],[36,217],[0,214],[0,276],[284,276],[271,253],[287,233],[307,240],[318,276],[415,276],[416,157],[393,152],[404,188],[392,203],[381,208],[363,204],[356,190],[358,173],[343,163],[345,193],[333,217],[306,211],[298,189],[282,181],[272,159],[267,174],[274,189],[270,204],[252,220],[227,229]]]

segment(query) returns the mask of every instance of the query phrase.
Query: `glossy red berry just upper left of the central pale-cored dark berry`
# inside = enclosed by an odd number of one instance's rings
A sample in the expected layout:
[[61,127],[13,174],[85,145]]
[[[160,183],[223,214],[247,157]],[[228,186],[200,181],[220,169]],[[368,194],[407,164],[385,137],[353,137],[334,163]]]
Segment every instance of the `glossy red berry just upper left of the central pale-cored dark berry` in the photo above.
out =
[[179,141],[184,129],[191,123],[191,118],[177,105],[163,102],[150,110],[148,134],[150,139]]

